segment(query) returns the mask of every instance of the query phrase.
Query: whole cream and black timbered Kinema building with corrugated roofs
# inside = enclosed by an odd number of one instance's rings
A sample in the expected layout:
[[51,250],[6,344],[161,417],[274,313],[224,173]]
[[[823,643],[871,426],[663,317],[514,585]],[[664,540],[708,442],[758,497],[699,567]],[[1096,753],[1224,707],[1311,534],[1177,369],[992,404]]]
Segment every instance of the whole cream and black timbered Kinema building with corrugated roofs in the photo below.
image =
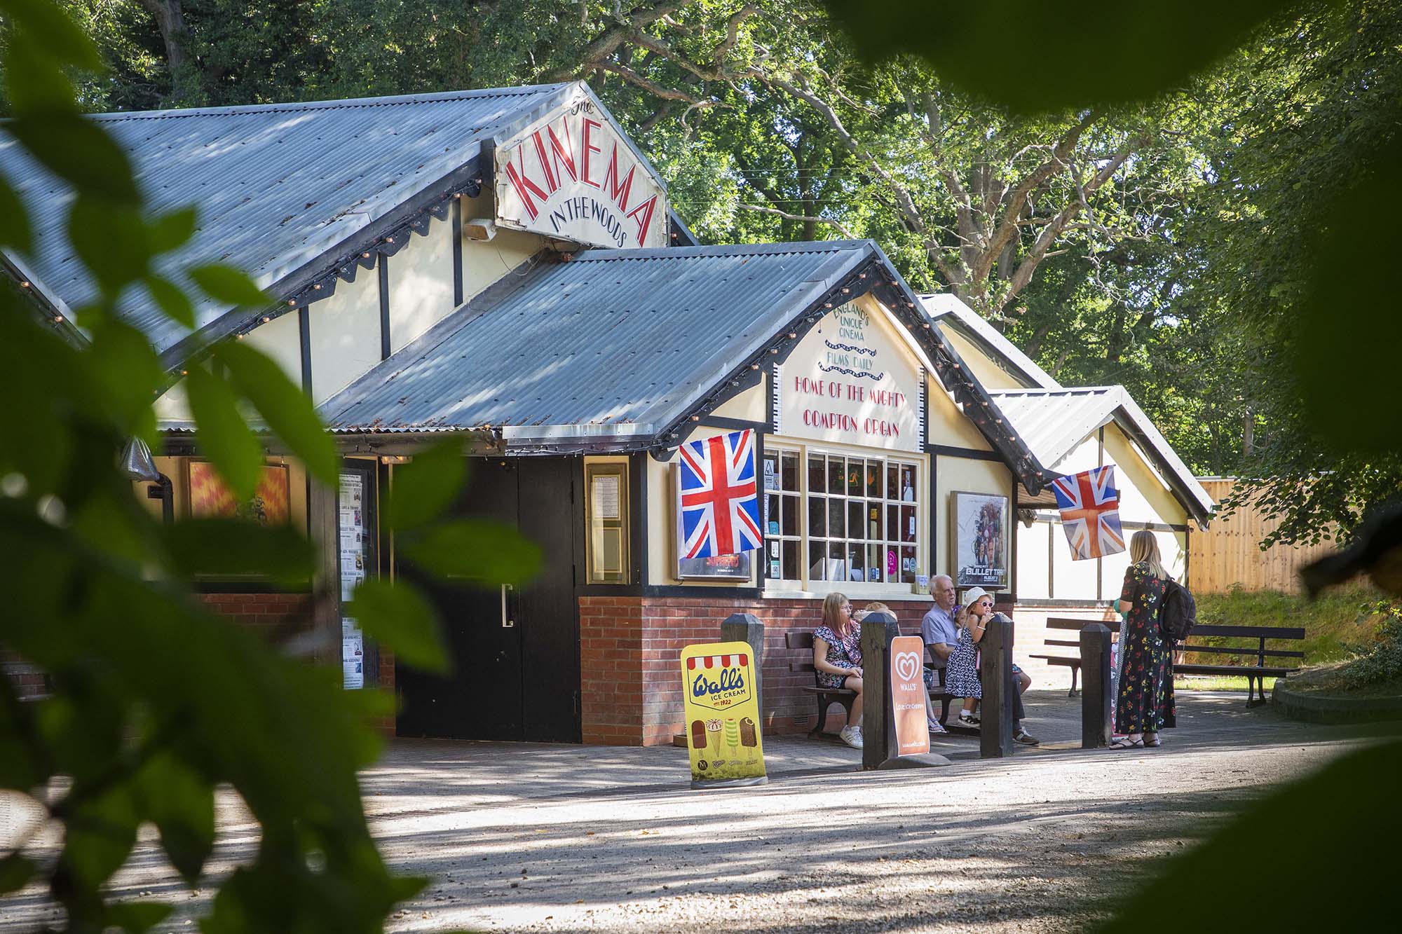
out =
[[[189,261],[237,264],[276,299],[206,303],[185,331],[133,296],[129,320],[177,374],[219,338],[265,351],[341,447],[325,488],[269,439],[255,515],[322,544],[341,593],[402,574],[383,494],[457,438],[472,461],[458,509],[544,550],[520,589],[429,588],[471,676],[395,666],[353,620],[313,613],[310,586],[205,582],[202,599],[248,625],[343,647],[349,690],[398,694],[400,735],[669,742],[680,648],[736,611],[768,627],[764,729],[806,731],[782,631],[812,628],[826,593],[883,600],[913,625],[930,603],[918,582],[946,572],[1009,609],[1074,593],[1101,613],[1116,565],[1063,568],[1047,492],[1099,457],[1133,475],[1140,520],[1165,541],[1202,517],[1127,397],[1088,390],[1091,405],[1042,384],[976,316],[911,292],[875,243],[698,245],[585,84],[95,119],[154,209],[198,205]],[[66,309],[93,287],[67,255],[62,185],[13,144],[0,165],[38,240],[6,272],[72,327]],[[241,508],[200,457],[182,383],[157,408],[168,482],[137,495],[154,489],[175,522]],[[677,447],[737,429],[757,435],[764,547],[680,558]]]

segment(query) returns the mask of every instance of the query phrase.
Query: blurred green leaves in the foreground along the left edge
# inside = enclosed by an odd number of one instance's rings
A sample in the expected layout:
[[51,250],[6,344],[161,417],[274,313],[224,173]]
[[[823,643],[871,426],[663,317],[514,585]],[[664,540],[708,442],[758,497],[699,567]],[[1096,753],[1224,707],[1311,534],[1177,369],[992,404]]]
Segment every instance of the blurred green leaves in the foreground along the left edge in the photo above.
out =
[[[215,788],[227,783],[258,820],[258,843],[224,881],[203,931],[379,931],[425,882],[388,872],[360,806],[356,770],[380,750],[369,724],[393,714],[393,698],[341,690],[338,666],[282,655],[191,596],[195,574],[306,583],[311,544],[290,529],[233,520],[163,526],[119,466],[129,439],[157,442],[151,402],[170,383],[118,314],[121,299],[149,289],[172,320],[193,325],[188,296],[151,269],[189,240],[195,209],[143,209],[123,153],[79,114],[67,76],[100,62],[55,6],[0,0],[0,27],[13,105],[0,133],[72,191],[67,230],[101,287],[69,321],[45,320],[22,286],[0,285],[0,393],[11,404],[0,447],[0,645],[52,679],[39,701],[21,701],[0,679],[0,788],[29,795],[45,815],[0,853],[0,895],[42,881],[64,909],[64,930],[149,930],[170,905],[114,898],[109,879],[137,827],[151,823],[171,865],[199,885],[215,846]],[[21,257],[32,247],[4,178],[0,245]],[[269,302],[236,269],[186,272],[227,306]],[[273,443],[250,426],[254,411],[280,450],[334,485],[335,450],[300,388],[241,344],[207,353],[222,366],[184,365],[199,445],[240,498]],[[531,548],[509,532],[485,537],[439,519],[463,482],[461,456],[444,450],[405,471],[405,502],[387,509],[405,540],[458,546],[436,564],[475,551],[496,557],[503,579],[529,572]],[[353,609],[405,661],[443,668],[436,623],[409,588],[372,582]],[[320,651],[339,661],[338,648]],[[31,846],[50,822],[63,832],[56,860]]]

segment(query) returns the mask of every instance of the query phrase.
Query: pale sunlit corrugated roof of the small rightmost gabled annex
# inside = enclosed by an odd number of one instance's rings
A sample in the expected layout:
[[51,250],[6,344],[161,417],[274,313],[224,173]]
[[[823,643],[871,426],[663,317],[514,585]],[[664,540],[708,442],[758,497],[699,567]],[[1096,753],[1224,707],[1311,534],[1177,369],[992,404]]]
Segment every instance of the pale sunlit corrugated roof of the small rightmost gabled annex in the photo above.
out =
[[1204,522],[1213,510],[1213,498],[1123,386],[990,390],[988,395],[1044,468],[1056,471],[1081,442],[1113,421],[1145,449],[1189,515]]

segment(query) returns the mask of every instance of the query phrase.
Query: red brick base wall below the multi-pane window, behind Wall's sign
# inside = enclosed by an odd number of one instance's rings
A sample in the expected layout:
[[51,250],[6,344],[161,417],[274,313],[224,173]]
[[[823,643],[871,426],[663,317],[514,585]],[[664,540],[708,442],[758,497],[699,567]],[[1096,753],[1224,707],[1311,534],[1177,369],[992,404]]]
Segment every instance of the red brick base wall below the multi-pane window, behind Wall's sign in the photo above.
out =
[[[858,604],[864,600],[857,600]],[[886,600],[903,632],[918,632],[928,600]],[[784,648],[788,630],[820,624],[822,600],[753,600],[733,597],[580,597],[580,700],[583,740],[606,745],[659,745],[681,732],[681,649],[715,642],[732,613],[753,613],[764,623],[761,718],[767,733],[808,732],[817,705],[799,690],[812,673],[789,672],[803,652]],[[830,728],[841,715],[830,712]]]

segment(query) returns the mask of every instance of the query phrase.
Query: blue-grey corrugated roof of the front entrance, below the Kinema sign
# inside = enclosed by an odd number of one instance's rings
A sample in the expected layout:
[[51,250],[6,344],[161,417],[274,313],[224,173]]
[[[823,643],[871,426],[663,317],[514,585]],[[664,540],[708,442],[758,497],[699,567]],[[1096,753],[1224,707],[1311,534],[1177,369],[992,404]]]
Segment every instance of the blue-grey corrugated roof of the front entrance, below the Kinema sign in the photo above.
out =
[[660,428],[872,255],[871,241],[589,250],[458,309],[321,412],[342,432]]

